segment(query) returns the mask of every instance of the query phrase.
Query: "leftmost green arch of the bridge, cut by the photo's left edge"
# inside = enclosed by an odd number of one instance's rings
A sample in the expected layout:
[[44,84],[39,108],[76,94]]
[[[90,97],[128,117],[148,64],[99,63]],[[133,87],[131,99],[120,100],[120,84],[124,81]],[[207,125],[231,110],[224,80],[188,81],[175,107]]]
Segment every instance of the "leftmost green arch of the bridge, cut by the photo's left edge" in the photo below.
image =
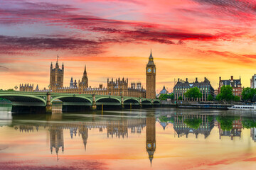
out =
[[32,96],[26,94],[0,94],[1,98],[6,98],[13,103],[13,106],[46,106],[46,96]]

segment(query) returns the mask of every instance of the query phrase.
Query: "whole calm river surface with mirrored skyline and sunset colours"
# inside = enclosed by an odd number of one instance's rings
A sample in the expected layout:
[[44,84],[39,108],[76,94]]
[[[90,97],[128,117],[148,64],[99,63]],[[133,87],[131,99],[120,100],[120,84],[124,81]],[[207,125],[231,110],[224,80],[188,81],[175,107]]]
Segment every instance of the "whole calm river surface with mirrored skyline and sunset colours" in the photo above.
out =
[[256,113],[0,109],[0,169],[256,168]]

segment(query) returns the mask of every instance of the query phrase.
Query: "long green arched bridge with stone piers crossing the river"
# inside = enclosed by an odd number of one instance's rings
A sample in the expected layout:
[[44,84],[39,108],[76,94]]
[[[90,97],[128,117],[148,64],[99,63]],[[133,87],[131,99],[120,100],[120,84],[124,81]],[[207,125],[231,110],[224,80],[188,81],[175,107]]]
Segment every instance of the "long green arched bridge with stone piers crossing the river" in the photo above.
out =
[[29,106],[41,108],[41,112],[51,113],[53,101],[60,100],[63,106],[153,106],[160,105],[157,99],[135,98],[128,96],[105,96],[94,94],[57,94],[47,92],[0,91],[0,97],[12,102],[14,107]]

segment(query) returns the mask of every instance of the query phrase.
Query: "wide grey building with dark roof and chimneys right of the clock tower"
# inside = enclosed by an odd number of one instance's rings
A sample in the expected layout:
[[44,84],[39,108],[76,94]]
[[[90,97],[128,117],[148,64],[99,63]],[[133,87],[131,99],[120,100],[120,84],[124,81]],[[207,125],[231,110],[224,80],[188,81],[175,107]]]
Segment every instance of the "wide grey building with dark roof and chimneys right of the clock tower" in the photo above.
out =
[[204,81],[199,82],[196,77],[196,81],[193,82],[188,82],[188,78],[186,78],[186,81],[178,79],[174,86],[174,99],[177,100],[181,96],[183,100],[187,101],[188,98],[184,94],[193,87],[198,87],[202,93],[202,98],[195,98],[195,101],[208,101],[209,95],[214,96],[214,89],[210,85],[210,81],[205,77]]

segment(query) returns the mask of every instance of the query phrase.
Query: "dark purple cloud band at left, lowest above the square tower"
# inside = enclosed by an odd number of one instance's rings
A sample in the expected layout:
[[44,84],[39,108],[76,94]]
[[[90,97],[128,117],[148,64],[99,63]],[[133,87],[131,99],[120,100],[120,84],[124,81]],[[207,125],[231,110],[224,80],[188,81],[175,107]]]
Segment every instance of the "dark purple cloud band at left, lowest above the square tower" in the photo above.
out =
[[97,55],[103,51],[102,42],[82,38],[36,38],[0,35],[0,53],[27,50],[72,50],[86,55]]

